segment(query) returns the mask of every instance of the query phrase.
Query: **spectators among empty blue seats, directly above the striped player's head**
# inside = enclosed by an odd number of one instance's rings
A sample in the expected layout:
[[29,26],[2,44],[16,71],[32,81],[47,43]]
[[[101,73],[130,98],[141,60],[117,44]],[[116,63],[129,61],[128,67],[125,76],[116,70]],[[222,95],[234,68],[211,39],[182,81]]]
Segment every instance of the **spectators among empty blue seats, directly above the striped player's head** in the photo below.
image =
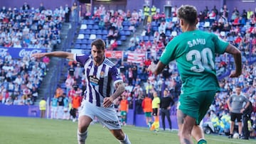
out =
[[142,19],[142,13],[137,10],[113,11],[106,10],[105,6],[101,5],[95,7],[93,11],[93,13],[85,13],[81,26],[81,28],[85,26],[90,32],[81,31],[80,34],[86,40],[102,38],[106,42],[107,50],[117,50],[118,46],[122,45],[122,41],[136,31]]

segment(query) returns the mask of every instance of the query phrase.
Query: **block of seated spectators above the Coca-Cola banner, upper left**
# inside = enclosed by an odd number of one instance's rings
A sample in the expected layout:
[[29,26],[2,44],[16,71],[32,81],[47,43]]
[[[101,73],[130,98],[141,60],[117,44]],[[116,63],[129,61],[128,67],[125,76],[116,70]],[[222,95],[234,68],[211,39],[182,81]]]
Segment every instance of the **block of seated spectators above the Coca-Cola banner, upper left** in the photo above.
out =
[[49,51],[60,43],[60,29],[65,8],[38,9],[24,4],[20,9],[0,9],[0,45],[5,48],[46,48]]

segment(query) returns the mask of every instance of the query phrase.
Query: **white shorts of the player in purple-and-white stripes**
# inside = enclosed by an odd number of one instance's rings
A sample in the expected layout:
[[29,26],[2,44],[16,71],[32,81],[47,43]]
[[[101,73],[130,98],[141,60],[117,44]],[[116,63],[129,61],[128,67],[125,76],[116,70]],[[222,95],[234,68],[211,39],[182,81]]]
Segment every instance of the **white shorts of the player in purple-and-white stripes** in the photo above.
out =
[[88,101],[82,101],[80,108],[79,116],[89,116],[92,120],[96,116],[98,121],[108,129],[121,129],[121,125],[117,117],[117,111],[114,109],[114,106],[105,108],[102,106],[95,106]]

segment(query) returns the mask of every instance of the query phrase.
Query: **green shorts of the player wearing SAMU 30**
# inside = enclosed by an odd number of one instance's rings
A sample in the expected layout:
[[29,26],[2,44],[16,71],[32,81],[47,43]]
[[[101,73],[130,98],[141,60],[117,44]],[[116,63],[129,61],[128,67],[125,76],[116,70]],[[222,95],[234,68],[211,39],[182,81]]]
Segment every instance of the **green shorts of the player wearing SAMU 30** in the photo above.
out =
[[188,116],[196,119],[198,125],[206,115],[210,105],[215,97],[215,90],[202,91],[193,94],[181,94],[177,109],[181,110]]

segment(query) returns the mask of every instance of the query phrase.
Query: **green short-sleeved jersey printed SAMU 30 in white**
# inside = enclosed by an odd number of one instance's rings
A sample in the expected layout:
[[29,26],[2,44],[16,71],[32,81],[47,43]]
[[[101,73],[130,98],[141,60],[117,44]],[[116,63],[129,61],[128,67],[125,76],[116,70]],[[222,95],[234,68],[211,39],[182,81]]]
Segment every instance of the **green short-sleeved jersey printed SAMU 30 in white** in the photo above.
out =
[[215,53],[223,54],[228,43],[213,33],[188,31],[171,40],[160,57],[164,65],[176,60],[181,75],[181,94],[220,89]]

